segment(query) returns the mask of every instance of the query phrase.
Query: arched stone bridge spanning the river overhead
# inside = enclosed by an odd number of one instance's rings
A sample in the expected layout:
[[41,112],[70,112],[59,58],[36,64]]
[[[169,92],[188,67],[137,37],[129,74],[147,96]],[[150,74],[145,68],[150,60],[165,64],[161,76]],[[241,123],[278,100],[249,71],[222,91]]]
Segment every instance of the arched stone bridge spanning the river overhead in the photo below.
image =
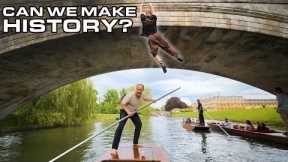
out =
[[[4,0],[3,6],[132,5],[136,0]],[[145,1],[147,2],[147,0]],[[286,0],[155,0],[158,25],[190,69],[235,79],[272,92],[288,91]],[[2,22],[3,17],[0,17]],[[13,18],[12,18],[13,19]],[[129,33],[4,33],[0,24],[0,118],[39,95],[123,69],[156,67],[138,36]],[[159,75],[162,75],[159,70]]]

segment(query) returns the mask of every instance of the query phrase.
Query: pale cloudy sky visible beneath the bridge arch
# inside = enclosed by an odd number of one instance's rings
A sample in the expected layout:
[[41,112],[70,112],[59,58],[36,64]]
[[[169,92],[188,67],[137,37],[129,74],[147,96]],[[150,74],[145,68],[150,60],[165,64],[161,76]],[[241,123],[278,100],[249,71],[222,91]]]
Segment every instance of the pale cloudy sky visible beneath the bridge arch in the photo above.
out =
[[[137,83],[143,83],[157,98],[170,90],[181,87],[171,96],[179,97],[187,104],[195,102],[199,97],[206,96],[243,96],[245,98],[274,99],[275,96],[255,88],[253,86],[235,81],[229,78],[191,70],[168,69],[166,74],[159,68],[131,69],[96,75],[89,78],[100,96],[108,89],[122,89],[131,87]],[[164,100],[153,104],[153,107],[161,107]]]

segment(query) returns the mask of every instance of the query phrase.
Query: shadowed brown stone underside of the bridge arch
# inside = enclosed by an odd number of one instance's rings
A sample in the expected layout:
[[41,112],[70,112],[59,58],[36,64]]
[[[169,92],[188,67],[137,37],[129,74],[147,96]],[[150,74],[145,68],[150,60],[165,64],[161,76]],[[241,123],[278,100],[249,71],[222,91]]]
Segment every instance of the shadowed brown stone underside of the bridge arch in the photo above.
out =
[[[288,90],[288,39],[218,28],[161,27],[161,31],[185,58],[179,64],[163,55],[171,68],[216,74],[270,92],[274,87]],[[79,34],[1,54],[0,117],[79,79],[157,67],[138,33],[134,28],[129,33]],[[164,75],[161,70],[159,75]]]

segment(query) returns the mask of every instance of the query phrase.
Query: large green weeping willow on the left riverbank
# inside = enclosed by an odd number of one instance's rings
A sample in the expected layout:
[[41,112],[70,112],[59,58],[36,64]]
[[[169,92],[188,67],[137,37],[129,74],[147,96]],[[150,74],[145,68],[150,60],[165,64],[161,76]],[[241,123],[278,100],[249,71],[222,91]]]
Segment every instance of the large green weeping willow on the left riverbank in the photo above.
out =
[[92,83],[88,79],[80,80],[20,106],[14,116],[22,126],[79,125],[96,113],[96,98]]

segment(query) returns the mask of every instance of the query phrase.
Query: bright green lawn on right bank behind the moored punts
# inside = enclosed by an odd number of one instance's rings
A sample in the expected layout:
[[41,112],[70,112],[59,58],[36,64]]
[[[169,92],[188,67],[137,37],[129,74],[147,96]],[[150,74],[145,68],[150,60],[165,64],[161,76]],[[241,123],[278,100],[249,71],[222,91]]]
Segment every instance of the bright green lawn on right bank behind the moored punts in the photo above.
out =
[[[197,112],[173,112],[173,117],[198,117]],[[224,120],[228,118],[230,121],[245,122],[250,120],[252,122],[265,122],[267,125],[277,128],[283,128],[283,122],[276,112],[275,108],[265,109],[234,109],[221,111],[205,111],[206,119]]]

